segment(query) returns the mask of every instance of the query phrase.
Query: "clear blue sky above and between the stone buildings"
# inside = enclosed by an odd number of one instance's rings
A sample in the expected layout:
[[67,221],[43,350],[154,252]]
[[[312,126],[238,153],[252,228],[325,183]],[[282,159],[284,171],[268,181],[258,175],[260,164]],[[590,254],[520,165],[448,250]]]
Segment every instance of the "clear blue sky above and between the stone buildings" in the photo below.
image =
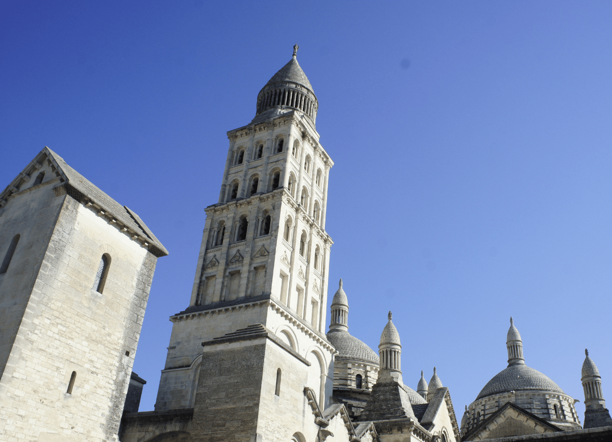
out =
[[393,310],[405,383],[436,365],[460,419],[512,315],[583,421],[585,347],[612,400],[611,21],[597,1],[4,1],[0,178],[47,145],[170,250],[134,365],[151,410],[225,133],[297,42],[349,331],[376,350]]

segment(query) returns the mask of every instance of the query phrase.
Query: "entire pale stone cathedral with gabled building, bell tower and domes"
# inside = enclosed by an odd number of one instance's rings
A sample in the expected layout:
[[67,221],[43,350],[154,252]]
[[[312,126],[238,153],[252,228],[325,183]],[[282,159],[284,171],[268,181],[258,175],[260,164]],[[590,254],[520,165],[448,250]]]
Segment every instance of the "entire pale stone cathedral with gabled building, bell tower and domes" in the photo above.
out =
[[349,333],[351,285],[327,280],[334,162],[297,49],[259,91],[252,121],[227,133],[154,411],[138,412],[146,381],[132,365],[155,262],[168,251],[48,148],[0,193],[3,440],[612,440],[588,352],[581,424],[577,399],[526,365],[512,318],[507,368],[460,416],[436,369],[429,381],[403,378],[392,312],[379,318],[377,351]]

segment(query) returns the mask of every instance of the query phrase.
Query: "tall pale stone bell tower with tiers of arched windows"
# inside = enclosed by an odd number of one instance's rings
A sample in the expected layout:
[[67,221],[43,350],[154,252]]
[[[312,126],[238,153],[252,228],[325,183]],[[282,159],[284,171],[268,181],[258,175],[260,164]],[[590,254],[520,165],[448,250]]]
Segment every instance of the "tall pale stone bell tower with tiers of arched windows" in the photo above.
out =
[[[265,435],[265,400],[276,400],[277,413],[291,421],[304,412],[291,407],[304,402],[305,389],[322,409],[332,392],[335,350],[324,326],[332,245],[325,231],[327,178],[334,163],[319,143],[318,100],[296,53],[297,45],[259,91],[255,118],[228,132],[219,198],[206,208],[190,303],[170,318],[155,410],[193,408],[194,428],[202,423],[204,439]],[[294,391],[285,388],[289,375]],[[236,397],[229,397],[232,380]],[[220,403],[212,399],[217,393]],[[296,395],[293,405],[278,399],[287,395]],[[259,405],[249,411],[245,401]],[[218,413],[236,410],[244,414],[244,432],[221,435],[206,426]]]

